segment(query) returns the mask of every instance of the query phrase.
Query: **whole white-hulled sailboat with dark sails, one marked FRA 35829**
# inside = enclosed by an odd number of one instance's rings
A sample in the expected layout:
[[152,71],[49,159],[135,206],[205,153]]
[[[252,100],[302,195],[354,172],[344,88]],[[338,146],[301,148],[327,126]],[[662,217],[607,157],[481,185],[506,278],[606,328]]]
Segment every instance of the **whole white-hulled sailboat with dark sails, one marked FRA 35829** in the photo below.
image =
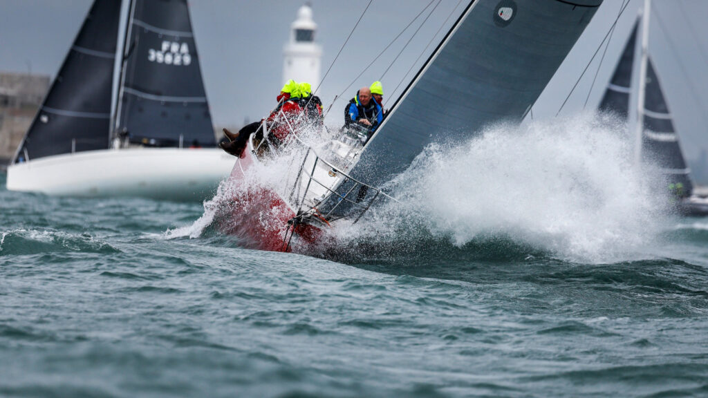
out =
[[9,190],[202,200],[228,176],[186,0],[129,2],[114,92],[121,4],[93,2],[8,167]]

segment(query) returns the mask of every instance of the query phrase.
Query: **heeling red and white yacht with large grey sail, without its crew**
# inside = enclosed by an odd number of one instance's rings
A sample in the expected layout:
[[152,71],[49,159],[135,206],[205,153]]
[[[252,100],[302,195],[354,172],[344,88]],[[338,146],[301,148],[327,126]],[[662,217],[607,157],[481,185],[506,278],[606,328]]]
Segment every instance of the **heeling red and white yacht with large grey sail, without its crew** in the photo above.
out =
[[[314,241],[317,229],[336,220],[355,222],[388,196],[377,187],[431,142],[464,140],[491,123],[523,120],[601,3],[469,1],[365,147],[345,136],[332,142],[331,157],[308,149],[294,185],[251,200],[267,204],[264,211],[275,207],[278,220],[259,226],[252,208],[249,214],[235,208],[227,229],[260,249],[288,250],[293,236]],[[256,146],[250,142],[236,162],[235,181],[258,161]]]

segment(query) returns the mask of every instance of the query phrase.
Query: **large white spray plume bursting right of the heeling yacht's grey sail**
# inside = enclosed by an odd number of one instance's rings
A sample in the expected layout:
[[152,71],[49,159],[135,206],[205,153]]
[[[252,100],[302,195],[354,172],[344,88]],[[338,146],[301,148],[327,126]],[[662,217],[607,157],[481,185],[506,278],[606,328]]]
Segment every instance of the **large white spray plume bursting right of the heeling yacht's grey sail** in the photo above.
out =
[[410,235],[476,249],[511,241],[564,261],[634,260],[658,239],[666,198],[650,194],[621,123],[599,122],[496,125],[455,146],[430,145],[392,181],[400,203],[337,229],[336,239],[396,246]]

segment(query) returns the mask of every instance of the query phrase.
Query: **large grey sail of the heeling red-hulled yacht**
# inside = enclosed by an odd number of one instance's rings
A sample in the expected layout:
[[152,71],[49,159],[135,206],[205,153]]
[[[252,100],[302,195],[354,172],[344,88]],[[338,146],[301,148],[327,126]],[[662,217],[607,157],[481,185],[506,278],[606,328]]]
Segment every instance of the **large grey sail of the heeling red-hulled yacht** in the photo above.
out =
[[[350,176],[381,186],[431,142],[464,140],[486,125],[520,122],[575,45],[602,0],[476,0],[396,102]],[[351,180],[318,207],[354,210],[341,196],[365,191]]]

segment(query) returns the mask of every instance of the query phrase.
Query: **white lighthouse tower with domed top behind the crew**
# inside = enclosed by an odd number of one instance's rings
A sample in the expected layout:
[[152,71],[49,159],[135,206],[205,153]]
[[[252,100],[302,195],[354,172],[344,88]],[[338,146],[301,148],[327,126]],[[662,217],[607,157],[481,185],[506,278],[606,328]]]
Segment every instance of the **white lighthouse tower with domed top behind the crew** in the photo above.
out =
[[290,25],[290,42],[282,50],[282,82],[289,79],[319,85],[322,48],[314,42],[317,24],[312,21],[312,7],[304,4],[297,10],[297,19]]

